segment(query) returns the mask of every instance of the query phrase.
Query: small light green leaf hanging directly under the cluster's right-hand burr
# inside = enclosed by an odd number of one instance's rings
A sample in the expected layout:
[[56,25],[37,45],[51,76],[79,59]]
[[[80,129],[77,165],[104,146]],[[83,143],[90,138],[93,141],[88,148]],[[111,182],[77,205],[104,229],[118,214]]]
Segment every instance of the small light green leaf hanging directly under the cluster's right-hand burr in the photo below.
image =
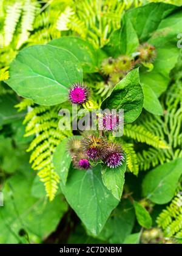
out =
[[126,155],[123,164],[117,168],[109,168],[103,165],[101,168],[104,185],[112,192],[116,199],[120,200],[123,192],[124,173],[126,171]]

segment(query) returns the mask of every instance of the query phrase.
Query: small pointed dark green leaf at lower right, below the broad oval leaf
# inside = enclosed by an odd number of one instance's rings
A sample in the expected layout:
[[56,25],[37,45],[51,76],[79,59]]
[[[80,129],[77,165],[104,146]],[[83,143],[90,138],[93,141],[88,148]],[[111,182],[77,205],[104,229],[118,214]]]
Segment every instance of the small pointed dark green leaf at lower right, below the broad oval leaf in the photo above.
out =
[[152,218],[150,217],[149,212],[147,212],[147,210],[143,206],[141,206],[141,204],[138,204],[138,202],[134,201],[133,204],[135,207],[136,219],[138,223],[142,227],[150,229],[150,227],[152,226]]

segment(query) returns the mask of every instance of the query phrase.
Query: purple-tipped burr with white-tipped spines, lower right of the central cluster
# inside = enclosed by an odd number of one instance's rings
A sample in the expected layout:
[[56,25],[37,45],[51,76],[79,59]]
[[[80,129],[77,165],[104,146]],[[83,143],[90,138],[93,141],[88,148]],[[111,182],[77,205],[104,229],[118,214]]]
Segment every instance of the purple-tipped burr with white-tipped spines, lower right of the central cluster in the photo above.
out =
[[104,159],[104,164],[110,168],[116,168],[122,165],[124,155],[121,147],[115,143],[109,143],[107,145],[107,156]]

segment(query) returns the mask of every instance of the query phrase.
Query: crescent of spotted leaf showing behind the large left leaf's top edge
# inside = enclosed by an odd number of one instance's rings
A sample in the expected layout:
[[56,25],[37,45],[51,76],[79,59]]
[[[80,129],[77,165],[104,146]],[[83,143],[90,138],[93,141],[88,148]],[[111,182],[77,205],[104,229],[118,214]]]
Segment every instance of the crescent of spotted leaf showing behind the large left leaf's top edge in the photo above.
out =
[[95,72],[96,52],[92,44],[74,36],[61,37],[49,42],[50,45],[72,52],[83,67],[84,72]]

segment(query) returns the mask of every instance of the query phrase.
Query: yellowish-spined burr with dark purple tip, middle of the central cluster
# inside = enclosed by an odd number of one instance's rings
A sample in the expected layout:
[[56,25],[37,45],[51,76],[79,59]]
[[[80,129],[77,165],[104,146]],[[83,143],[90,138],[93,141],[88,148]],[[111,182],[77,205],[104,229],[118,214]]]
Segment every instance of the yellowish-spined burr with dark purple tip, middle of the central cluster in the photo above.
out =
[[106,140],[103,137],[94,135],[84,137],[82,144],[84,153],[90,160],[98,161],[106,157]]

